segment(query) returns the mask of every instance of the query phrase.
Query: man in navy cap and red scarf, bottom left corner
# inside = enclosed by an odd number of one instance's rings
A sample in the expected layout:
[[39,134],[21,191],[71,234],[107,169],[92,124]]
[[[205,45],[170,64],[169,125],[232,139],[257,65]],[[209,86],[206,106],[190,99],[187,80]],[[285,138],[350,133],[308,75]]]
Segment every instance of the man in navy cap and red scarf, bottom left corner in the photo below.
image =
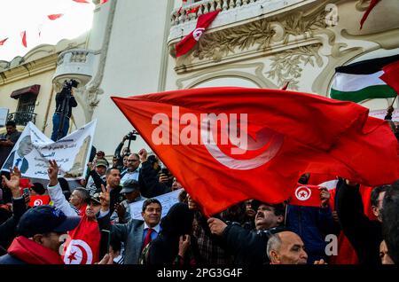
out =
[[79,222],[78,216],[67,217],[51,206],[30,208],[20,218],[20,236],[12,241],[8,254],[0,257],[0,264],[63,264],[59,255],[61,236]]

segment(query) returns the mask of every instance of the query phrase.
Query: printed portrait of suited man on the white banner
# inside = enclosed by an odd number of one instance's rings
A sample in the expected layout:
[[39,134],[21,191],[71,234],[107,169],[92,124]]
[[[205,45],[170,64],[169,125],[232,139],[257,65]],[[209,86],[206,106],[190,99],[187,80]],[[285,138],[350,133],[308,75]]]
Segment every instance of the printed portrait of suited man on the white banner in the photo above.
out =
[[25,156],[28,153],[31,153],[33,148],[34,147],[30,142],[30,135],[23,137],[22,140],[20,140],[18,149],[13,151],[7,161],[4,162],[4,168],[17,167],[20,169],[22,174],[26,173],[27,168],[29,168],[29,163],[27,162],[27,159],[25,159]]

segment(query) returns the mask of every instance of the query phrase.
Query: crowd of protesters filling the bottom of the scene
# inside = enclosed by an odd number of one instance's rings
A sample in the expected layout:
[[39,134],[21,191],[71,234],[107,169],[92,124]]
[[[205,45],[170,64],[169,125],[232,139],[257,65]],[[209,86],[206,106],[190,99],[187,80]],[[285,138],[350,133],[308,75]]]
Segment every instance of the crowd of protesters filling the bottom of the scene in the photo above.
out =
[[[15,132],[8,123],[4,148],[16,142]],[[249,199],[207,217],[156,155],[131,153],[126,140],[112,163],[104,152],[95,153],[73,191],[59,178],[56,161],[49,161],[47,187],[30,184],[18,167],[3,172],[0,263],[73,262],[67,245],[78,233],[90,238],[90,262],[100,264],[399,263],[398,181],[364,187],[337,177],[335,188],[320,188],[320,207]],[[316,178],[305,174],[298,182],[319,184]],[[176,190],[179,201],[161,217],[157,197]],[[48,195],[49,204],[31,207],[35,194]],[[130,210],[138,201],[141,219]],[[330,246],[326,238],[336,239]],[[327,252],[330,247],[336,251]]]

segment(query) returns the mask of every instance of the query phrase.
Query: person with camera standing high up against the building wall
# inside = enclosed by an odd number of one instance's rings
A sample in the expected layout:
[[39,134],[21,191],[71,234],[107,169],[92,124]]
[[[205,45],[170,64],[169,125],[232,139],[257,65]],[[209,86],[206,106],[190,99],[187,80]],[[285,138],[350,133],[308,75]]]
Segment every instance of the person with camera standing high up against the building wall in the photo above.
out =
[[[52,116],[51,133],[51,140],[54,142],[62,137],[66,137],[68,133],[72,108],[77,106],[72,88],[77,87],[77,85],[78,83],[74,80],[65,82],[63,89],[56,94],[56,110]],[[63,124],[61,124],[62,122]]]

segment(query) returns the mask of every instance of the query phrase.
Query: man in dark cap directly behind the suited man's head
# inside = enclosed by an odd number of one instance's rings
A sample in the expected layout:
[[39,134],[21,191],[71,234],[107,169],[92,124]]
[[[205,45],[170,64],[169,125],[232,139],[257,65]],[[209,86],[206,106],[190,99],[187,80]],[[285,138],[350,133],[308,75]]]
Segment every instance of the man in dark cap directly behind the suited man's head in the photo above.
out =
[[130,204],[146,199],[141,196],[138,182],[134,179],[126,180],[123,183],[121,194],[125,196],[126,200],[123,200],[120,204],[115,205],[115,211],[113,212],[113,215],[111,215],[111,221],[113,221],[113,223],[129,222]]

